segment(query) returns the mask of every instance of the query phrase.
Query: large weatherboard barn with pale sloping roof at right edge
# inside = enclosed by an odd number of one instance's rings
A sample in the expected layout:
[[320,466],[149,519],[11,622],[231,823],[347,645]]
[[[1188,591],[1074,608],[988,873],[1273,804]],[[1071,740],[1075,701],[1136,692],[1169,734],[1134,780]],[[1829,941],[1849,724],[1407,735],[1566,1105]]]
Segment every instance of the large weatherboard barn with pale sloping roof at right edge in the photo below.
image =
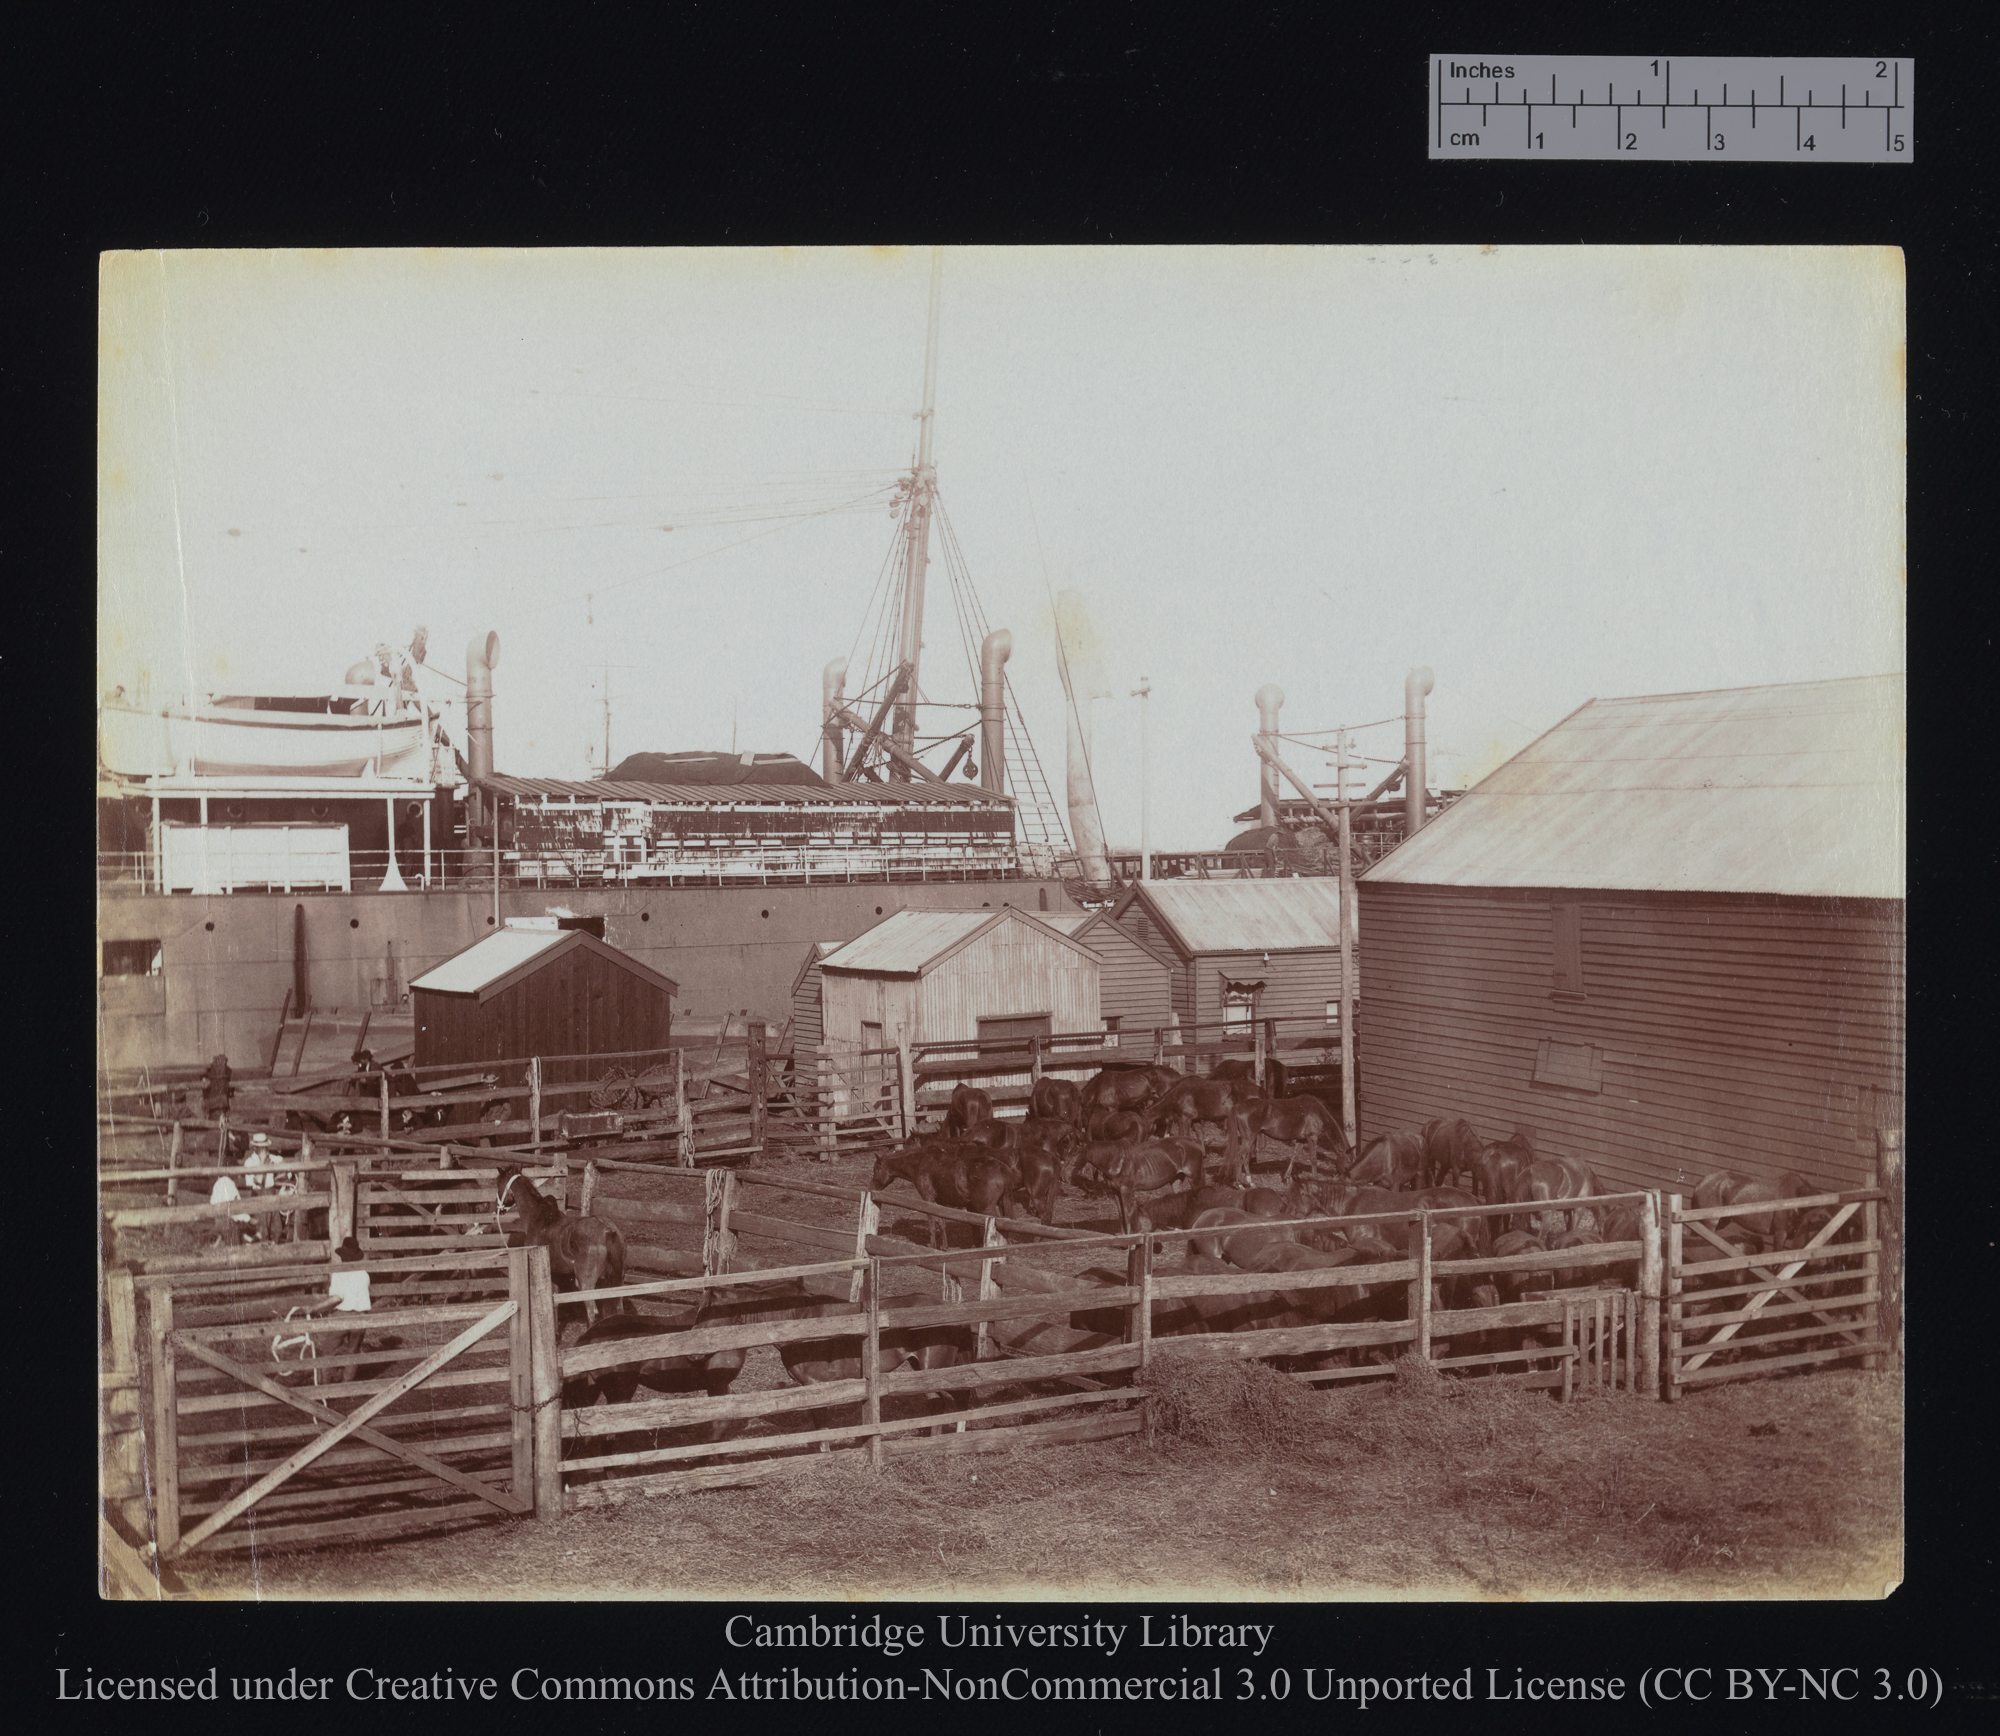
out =
[[1870,1186],[1902,1126],[1902,676],[1592,700],[1368,870],[1364,1132]]

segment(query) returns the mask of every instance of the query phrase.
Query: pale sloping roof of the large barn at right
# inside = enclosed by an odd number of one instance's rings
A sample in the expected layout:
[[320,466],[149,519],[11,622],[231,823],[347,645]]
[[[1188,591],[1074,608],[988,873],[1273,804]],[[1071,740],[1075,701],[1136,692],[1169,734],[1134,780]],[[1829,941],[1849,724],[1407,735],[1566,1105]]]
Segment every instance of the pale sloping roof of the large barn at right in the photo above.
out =
[[1590,700],[1362,878],[1904,896],[1904,678]]

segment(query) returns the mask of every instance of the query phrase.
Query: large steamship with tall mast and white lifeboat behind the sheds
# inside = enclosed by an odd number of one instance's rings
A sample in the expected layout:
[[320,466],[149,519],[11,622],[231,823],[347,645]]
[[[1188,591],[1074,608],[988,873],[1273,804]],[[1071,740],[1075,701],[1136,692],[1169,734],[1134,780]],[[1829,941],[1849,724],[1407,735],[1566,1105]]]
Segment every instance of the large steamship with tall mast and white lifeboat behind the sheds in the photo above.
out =
[[[582,780],[496,768],[498,632],[462,696],[426,634],[326,692],[210,692],[98,710],[98,1050],[106,1082],[338,1070],[406,1050],[408,984],[508,920],[556,918],[680,984],[678,1030],[764,1018],[782,1042],[818,942],[898,908],[1074,910],[1078,864],[942,520],[932,458],[940,258],[924,410],[896,496],[896,656],[822,672],[818,766],[766,752],[628,756]],[[920,668],[934,522],[976,702]],[[966,714],[976,722],[966,728]],[[942,718],[940,726],[936,720]],[[316,1036],[314,1036],[316,1032]],[[316,1044],[316,1046],[314,1046]]]

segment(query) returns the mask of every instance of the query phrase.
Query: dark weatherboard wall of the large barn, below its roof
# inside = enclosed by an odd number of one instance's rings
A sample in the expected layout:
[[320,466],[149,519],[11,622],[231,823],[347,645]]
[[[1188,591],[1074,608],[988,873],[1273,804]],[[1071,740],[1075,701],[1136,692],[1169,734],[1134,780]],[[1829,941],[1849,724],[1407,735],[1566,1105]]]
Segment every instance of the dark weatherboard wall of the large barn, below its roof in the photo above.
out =
[[1462,1114],[1606,1186],[1858,1188],[1902,1124],[1902,904],[1362,882],[1360,930],[1364,1134]]

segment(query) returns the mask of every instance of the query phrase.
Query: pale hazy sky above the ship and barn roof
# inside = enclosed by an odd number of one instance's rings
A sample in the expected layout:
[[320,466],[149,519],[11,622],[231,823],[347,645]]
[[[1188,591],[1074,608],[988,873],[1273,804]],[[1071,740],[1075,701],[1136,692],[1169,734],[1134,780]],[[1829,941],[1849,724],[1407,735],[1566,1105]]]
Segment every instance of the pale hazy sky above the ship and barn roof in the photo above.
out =
[[[330,692],[424,624],[452,696],[492,630],[502,772],[598,770],[606,680],[612,760],[816,762],[930,264],[106,254],[100,692]],[[1152,846],[1218,848],[1266,682],[1392,764],[1428,666],[1464,788],[1594,696],[1900,670],[1902,344],[1880,248],[948,248],[934,460],[1058,800],[1076,592],[1110,844],[1146,710]],[[924,690],[970,702],[948,596],[934,538]]]

